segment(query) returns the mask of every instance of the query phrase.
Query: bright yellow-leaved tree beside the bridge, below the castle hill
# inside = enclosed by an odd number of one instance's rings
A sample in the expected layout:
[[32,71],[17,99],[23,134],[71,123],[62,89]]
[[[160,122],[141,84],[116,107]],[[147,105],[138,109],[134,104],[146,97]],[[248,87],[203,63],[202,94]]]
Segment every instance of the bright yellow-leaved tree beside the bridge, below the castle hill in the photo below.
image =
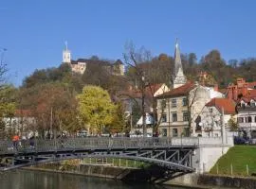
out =
[[101,87],[85,86],[77,99],[79,116],[90,133],[101,134],[102,129],[113,122],[116,106]]

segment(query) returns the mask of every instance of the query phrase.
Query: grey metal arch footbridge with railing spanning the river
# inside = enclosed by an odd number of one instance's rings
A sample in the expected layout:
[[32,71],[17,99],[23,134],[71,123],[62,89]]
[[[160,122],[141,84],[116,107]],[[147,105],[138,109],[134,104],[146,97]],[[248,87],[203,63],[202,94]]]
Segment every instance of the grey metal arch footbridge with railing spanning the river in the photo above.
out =
[[[212,140],[196,137],[126,138],[84,137],[55,140],[29,140],[16,147],[0,141],[0,170],[5,171],[38,163],[82,158],[122,158],[153,163],[173,172],[193,172],[192,156]],[[215,142],[219,142],[216,140]]]

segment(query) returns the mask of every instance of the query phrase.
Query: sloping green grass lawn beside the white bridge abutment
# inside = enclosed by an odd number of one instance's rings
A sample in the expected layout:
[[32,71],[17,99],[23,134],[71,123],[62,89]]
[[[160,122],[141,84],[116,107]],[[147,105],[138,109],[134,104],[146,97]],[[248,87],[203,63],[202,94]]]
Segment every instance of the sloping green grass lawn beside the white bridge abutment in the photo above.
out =
[[[232,168],[231,168],[232,167]],[[256,173],[256,146],[233,146],[210,169],[212,174],[247,176]]]

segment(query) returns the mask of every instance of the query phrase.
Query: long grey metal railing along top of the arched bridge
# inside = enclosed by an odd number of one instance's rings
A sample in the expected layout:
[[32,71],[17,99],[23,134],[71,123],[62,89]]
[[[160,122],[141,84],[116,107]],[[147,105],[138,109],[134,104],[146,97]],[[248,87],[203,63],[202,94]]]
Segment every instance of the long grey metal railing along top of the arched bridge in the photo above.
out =
[[56,151],[68,149],[108,149],[108,148],[152,148],[172,146],[198,146],[199,139],[192,137],[171,138],[127,138],[127,137],[85,137],[61,138],[56,140],[36,139],[31,144],[22,140],[17,146],[11,141],[0,141],[0,154],[29,151]]

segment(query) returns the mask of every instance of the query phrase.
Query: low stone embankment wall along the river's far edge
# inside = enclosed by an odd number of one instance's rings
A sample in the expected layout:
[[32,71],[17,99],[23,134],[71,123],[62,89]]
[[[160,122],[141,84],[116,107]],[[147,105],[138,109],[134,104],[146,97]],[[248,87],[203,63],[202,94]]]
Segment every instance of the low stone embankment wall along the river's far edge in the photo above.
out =
[[127,168],[102,164],[63,165],[61,163],[46,163],[40,166],[28,167],[27,169],[123,181],[149,181],[160,184],[187,186],[190,188],[256,188],[256,179],[253,177],[230,177],[192,173],[174,179],[163,179],[162,174],[164,173],[160,169],[155,169],[155,167]]

